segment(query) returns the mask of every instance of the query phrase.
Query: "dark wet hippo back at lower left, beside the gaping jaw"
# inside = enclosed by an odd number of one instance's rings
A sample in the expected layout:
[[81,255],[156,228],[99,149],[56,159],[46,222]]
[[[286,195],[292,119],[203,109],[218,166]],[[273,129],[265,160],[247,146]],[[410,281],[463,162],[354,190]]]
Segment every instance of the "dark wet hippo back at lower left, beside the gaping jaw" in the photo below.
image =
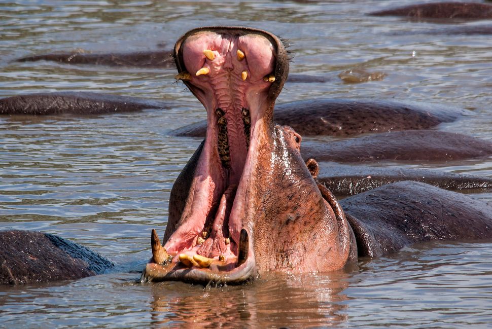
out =
[[52,234],[0,231],[0,284],[74,280],[112,267],[99,254]]

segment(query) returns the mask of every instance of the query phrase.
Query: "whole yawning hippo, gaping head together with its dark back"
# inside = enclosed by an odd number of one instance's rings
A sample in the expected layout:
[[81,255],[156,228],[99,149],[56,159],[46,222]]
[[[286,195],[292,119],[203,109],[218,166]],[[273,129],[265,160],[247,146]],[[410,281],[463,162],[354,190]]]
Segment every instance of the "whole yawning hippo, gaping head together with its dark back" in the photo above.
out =
[[374,209],[384,207],[381,218],[365,216],[347,198],[354,209],[347,221],[302,160],[300,136],[272,120],[289,71],[275,35],[197,28],[177,42],[174,57],[207,111],[207,130],[171,191],[163,245],[152,232],[153,258],[142,281],[237,283],[266,271],[338,270],[358,254],[416,241],[492,237],[486,204],[416,182],[366,192]]

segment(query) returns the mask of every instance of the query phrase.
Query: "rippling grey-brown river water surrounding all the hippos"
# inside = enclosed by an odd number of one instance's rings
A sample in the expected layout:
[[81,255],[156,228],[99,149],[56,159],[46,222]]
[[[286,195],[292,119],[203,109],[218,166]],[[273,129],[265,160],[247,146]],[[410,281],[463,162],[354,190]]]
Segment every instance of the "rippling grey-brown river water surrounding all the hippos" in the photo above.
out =
[[[492,327],[492,241],[421,244],[360,260],[347,271],[271,274],[240,286],[137,283],[151,256],[150,229],[164,230],[172,183],[199,143],[167,132],[203,119],[202,106],[173,83],[172,69],[13,61],[77,49],[158,50],[196,26],[247,25],[288,40],[291,72],[332,78],[288,84],[279,102],[350,97],[449,104],[476,115],[440,129],[492,139],[491,36],[421,33],[492,22],[364,15],[411,3],[0,3],[0,96],[83,90],[172,105],[89,118],[0,117],[0,229],[55,233],[119,264],[78,281],[0,287],[0,327]],[[354,67],[388,76],[364,84],[337,78]],[[377,165],[492,176],[490,159]],[[492,201],[490,193],[472,197]]]

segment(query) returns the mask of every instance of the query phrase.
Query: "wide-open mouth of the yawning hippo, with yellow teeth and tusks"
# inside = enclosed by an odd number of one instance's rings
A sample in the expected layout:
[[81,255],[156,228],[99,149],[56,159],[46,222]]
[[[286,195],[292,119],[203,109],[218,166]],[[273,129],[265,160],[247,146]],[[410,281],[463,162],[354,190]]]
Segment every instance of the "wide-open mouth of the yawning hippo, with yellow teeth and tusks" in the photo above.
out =
[[256,276],[253,247],[258,154],[272,129],[273,104],[288,73],[276,36],[243,27],[205,27],[175,45],[182,80],[207,111],[207,133],[179,220],[143,280],[242,282]]

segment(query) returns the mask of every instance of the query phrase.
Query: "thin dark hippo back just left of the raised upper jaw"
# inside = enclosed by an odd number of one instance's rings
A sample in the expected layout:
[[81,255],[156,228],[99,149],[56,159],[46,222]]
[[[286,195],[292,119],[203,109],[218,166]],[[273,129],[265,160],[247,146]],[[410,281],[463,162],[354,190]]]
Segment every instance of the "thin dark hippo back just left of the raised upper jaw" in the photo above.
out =
[[69,53],[36,55],[17,59],[18,62],[34,62],[39,60],[55,61],[65,64],[155,68],[169,68],[173,65],[172,52],[166,50],[108,54],[91,54],[77,51]]

